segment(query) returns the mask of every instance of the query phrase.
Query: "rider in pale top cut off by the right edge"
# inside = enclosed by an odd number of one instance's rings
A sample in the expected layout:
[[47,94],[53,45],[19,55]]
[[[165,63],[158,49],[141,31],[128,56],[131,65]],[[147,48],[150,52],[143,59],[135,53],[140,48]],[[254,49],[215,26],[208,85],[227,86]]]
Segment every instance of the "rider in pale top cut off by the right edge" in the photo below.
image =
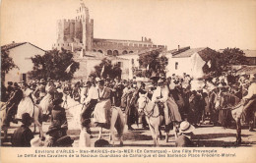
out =
[[249,79],[250,86],[248,87],[248,94],[242,99],[245,101],[244,112],[246,113],[247,120],[249,121],[249,131],[253,131],[254,124],[254,111],[256,108],[256,78]]

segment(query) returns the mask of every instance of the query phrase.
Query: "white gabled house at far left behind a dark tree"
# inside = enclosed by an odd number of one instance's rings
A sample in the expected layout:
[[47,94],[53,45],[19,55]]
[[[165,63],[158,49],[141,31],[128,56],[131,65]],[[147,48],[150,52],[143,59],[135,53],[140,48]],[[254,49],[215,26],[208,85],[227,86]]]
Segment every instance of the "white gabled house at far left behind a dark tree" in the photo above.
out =
[[32,71],[32,57],[44,55],[45,50],[33,45],[30,42],[11,43],[1,46],[1,50],[9,51],[9,57],[13,58],[14,63],[19,69],[12,69],[5,75],[7,81],[20,82],[28,81],[28,73]]

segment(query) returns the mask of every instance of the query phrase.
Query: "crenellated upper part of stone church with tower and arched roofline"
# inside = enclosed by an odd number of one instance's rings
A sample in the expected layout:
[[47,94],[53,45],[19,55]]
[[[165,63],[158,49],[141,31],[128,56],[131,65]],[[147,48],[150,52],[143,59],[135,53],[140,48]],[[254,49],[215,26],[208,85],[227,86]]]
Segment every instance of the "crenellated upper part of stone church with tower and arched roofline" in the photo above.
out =
[[141,40],[101,39],[94,37],[94,20],[90,19],[89,9],[81,2],[74,20],[59,20],[57,22],[57,42],[53,48],[74,51],[99,52],[105,55],[118,56],[140,52],[146,49],[166,48],[155,45],[151,38]]

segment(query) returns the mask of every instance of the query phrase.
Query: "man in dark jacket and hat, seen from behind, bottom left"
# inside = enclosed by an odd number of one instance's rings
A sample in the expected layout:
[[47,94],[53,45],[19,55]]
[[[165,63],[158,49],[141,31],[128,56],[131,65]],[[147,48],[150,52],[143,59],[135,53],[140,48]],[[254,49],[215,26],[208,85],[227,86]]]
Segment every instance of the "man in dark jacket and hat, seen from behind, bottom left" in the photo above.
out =
[[29,147],[33,138],[30,126],[32,125],[32,117],[29,113],[22,115],[23,125],[15,130],[11,138],[12,145],[15,147]]

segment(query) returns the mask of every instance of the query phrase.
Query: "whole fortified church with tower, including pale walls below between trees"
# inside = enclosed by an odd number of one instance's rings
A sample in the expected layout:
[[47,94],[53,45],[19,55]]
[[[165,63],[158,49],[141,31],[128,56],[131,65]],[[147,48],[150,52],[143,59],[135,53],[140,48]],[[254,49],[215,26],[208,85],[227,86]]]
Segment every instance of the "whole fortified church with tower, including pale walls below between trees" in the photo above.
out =
[[151,38],[141,40],[101,39],[94,37],[94,20],[90,19],[89,9],[80,2],[74,20],[57,21],[57,41],[53,49],[62,48],[74,53],[75,60],[80,63],[80,69],[74,75],[74,81],[87,80],[95,71],[103,58],[111,60],[112,64],[120,65],[121,78],[134,77],[134,69],[140,69],[139,55],[166,49],[164,45],[156,45]]

